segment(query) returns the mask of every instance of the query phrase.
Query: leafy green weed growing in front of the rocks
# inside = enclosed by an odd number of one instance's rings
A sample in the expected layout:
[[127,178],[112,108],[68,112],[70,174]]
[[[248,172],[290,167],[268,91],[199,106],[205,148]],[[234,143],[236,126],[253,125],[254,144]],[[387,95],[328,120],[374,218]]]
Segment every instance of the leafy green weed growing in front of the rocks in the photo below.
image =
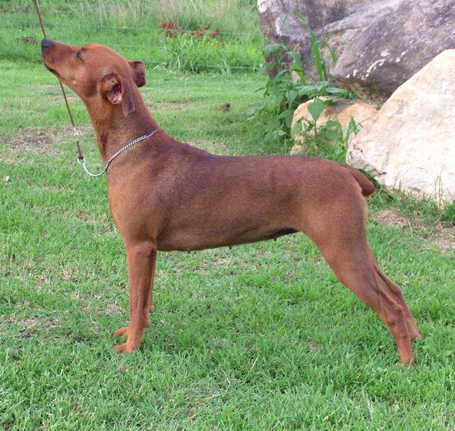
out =
[[[306,22],[300,14],[296,14]],[[325,157],[335,158],[341,161],[344,155],[346,136],[351,132],[356,132],[357,127],[350,125],[346,135],[340,129],[339,122],[331,122],[330,125],[316,127],[316,121],[323,108],[332,103],[332,99],[357,97],[353,92],[343,88],[335,87],[328,77],[328,67],[321,55],[320,45],[325,45],[331,54],[331,59],[335,63],[335,53],[325,41],[316,39],[314,32],[307,26],[311,36],[311,57],[316,65],[318,76],[309,76],[304,71],[304,64],[299,52],[296,52],[290,45],[274,43],[266,45],[264,56],[269,59],[265,64],[265,72],[269,76],[264,87],[258,91],[263,91],[264,101],[253,109],[251,120],[260,125],[265,143],[271,152],[279,149],[286,152],[293,145],[293,139],[297,134],[302,134],[306,139],[309,132],[312,133],[311,141],[314,145],[309,145],[307,153],[309,155],[325,155]],[[291,59],[291,62],[290,62]],[[332,99],[318,99],[321,96],[328,96]],[[297,122],[291,127],[295,109],[304,101],[315,99],[309,111],[312,118]],[[309,142],[311,144],[311,142]],[[330,148],[338,146],[339,148]]]

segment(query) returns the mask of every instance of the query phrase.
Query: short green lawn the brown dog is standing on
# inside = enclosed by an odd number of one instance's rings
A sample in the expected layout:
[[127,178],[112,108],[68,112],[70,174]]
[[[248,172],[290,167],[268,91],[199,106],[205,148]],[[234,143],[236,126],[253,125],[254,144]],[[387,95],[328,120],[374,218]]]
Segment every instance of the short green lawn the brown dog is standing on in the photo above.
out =
[[[144,97],[170,134],[264,153],[246,120],[263,78],[148,69]],[[455,255],[423,247],[430,206],[414,204],[417,232],[375,221],[410,217],[402,201],[370,199],[372,247],[424,336],[416,367],[398,364],[388,330],[301,234],[160,253],[151,328],[139,352],[117,355],[127,269],[106,179],[78,167],[55,77],[3,60],[0,80],[0,428],[455,430]],[[88,116],[69,94],[93,167]]]

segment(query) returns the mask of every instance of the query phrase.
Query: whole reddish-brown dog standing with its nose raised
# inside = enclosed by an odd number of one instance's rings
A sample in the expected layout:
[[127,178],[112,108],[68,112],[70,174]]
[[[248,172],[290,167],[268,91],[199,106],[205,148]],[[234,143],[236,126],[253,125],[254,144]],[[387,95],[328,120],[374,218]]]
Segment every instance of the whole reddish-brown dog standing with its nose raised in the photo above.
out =
[[175,141],[153,120],[139,88],[143,62],[106,46],[43,39],[45,66],[83,100],[104,162],[111,164],[111,213],[125,241],[130,326],[118,352],[139,348],[150,325],[158,250],[201,250],[304,232],[335,275],[376,311],[413,362],[419,330],[400,288],[379,268],[367,241],[365,197],[374,186],[351,167],[300,156],[222,157]]

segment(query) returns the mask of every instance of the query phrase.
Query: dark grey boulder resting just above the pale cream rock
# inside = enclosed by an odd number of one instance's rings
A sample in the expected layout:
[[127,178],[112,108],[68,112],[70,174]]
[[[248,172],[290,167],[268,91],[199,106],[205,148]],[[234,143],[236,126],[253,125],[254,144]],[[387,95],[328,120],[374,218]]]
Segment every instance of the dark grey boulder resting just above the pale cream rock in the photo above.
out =
[[362,97],[389,97],[437,54],[455,48],[455,0],[403,3],[346,46],[332,76]]

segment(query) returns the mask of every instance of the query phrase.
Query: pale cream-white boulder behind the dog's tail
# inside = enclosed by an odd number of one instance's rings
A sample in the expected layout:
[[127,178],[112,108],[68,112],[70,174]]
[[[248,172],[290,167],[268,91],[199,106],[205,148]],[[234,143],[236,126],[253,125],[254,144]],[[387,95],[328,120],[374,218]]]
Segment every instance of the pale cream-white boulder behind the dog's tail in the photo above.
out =
[[346,161],[387,188],[455,199],[455,50],[409,78],[349,143]]

